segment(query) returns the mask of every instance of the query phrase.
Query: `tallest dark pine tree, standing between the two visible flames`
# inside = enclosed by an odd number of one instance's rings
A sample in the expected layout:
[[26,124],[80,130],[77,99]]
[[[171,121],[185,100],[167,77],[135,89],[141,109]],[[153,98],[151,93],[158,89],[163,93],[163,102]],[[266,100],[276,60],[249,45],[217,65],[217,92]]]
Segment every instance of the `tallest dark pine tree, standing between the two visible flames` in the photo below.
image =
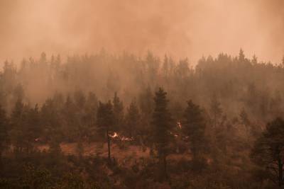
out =
[[153,142],[158,151],[160,162],[163,162],[163,173],[167,176],[167,161],[169,153],[171,115],[168,110],[167,93],[163,88],[155,92],[155,108],[153,112]]

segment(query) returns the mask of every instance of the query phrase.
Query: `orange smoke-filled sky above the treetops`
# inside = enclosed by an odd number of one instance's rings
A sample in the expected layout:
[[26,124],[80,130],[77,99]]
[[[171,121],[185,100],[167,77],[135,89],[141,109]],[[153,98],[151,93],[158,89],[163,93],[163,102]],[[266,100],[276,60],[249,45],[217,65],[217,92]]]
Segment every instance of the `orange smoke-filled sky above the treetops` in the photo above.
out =
[[227,52],[280,62],[282,0],[0,0],[0,61],[104,47],[190,57]]

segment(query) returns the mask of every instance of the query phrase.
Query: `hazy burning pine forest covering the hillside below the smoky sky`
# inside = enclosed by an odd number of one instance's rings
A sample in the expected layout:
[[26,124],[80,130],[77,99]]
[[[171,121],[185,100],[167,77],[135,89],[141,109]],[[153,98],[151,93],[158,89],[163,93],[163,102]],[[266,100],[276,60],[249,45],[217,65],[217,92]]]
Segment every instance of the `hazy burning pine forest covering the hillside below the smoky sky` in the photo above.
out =
[[284,188],[284,59],[46,55],[0,72],[0,188]]

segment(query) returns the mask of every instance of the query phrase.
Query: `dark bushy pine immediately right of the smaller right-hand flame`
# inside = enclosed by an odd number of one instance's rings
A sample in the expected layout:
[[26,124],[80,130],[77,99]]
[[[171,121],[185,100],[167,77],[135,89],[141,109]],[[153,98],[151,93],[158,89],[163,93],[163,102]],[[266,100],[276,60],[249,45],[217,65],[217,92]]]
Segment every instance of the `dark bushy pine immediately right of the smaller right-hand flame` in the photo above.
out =
[[187,102],[187,108],[183,115],[182,130],[190,141],[190,150],[194,159],[208,150],[208,143],[205,137],[206,122],[203,110],[192,101]]

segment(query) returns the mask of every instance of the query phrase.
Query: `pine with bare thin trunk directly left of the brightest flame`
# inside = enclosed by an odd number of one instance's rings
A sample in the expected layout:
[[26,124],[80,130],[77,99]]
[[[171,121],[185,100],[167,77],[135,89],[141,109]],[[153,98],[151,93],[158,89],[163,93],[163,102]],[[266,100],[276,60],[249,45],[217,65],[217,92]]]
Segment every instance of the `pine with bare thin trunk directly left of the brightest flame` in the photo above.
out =
[[99,130],[106,133],[108,158],[111,161],[111,148],[110,148],[110,134],[114,132],[114,112],[111,101],[108,103],[99,102],[99,108],[97,110],[97,126]]

